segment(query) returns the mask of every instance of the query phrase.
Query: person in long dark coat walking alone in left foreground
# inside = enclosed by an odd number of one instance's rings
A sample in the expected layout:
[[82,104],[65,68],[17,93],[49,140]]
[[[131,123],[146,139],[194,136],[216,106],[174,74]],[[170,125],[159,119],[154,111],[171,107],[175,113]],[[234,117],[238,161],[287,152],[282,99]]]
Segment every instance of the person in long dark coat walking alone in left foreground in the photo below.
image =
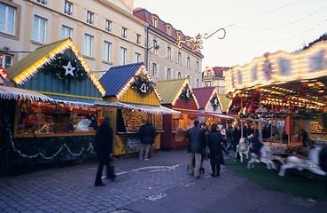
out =
[[110,161],[113,158],[113,129],[110,127],[110,118],[105,117],[97,130],[96,137],[96,148],[97,148],[97,161],[99,162],[97,168],[97,177],[94,183],[95,186],[105,185],[102,183],[102,171],[104,165],[106,167],[107,178],[114,180],[114,174],[110,168]]

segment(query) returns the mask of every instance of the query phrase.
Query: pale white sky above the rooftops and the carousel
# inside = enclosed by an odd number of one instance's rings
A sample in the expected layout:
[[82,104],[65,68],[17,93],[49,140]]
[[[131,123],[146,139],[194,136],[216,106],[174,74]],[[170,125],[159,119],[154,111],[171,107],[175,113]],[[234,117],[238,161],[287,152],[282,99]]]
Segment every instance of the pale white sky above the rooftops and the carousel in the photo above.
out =
[[183,35],[203,40],[205,67],[251,63],[266,52],[293,52],[327,32],[326,0],[135,0]]

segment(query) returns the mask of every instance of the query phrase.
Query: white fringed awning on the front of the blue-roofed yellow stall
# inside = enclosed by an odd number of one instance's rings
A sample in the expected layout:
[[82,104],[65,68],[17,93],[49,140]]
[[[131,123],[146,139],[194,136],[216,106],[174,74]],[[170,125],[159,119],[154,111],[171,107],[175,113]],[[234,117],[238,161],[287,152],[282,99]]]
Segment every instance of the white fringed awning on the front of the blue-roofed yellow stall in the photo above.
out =
[[110,103],[109,106],[128,108],[148,114],[181,114],[180,112],[167,108],[165,106],[143,105],[143,104],[120,102],[120,101]]

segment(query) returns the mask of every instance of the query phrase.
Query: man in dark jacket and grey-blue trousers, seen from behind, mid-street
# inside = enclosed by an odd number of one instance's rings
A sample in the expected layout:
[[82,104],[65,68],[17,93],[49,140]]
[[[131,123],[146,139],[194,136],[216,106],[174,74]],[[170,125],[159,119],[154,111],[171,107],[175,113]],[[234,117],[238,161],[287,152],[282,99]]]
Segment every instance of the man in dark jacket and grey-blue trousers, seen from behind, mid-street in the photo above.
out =
[[[189,153],[189,173],[199,178],[199,170],[201,165],[201,155],[206,145],[205,130],[199,128],[199,121],[194,121],[194,126],[187,130],[186,137],[188,140]],[[195,168],[193,166],[195,162]]]

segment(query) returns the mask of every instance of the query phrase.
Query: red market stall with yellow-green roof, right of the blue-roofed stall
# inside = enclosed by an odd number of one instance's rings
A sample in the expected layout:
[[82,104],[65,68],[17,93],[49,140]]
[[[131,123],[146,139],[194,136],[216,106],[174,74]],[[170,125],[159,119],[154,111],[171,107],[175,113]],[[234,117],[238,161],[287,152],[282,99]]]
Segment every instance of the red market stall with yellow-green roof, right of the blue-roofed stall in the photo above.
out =
[[187,78],[169,79],[157,83],[163,106],[178,110],[182,114],[166,114],[163,117],[164,130],[161,134],[161,148],[174,149],[187,146],[186,130],[193,126],[205,113],[199,112],[199,103],[193,94]]

